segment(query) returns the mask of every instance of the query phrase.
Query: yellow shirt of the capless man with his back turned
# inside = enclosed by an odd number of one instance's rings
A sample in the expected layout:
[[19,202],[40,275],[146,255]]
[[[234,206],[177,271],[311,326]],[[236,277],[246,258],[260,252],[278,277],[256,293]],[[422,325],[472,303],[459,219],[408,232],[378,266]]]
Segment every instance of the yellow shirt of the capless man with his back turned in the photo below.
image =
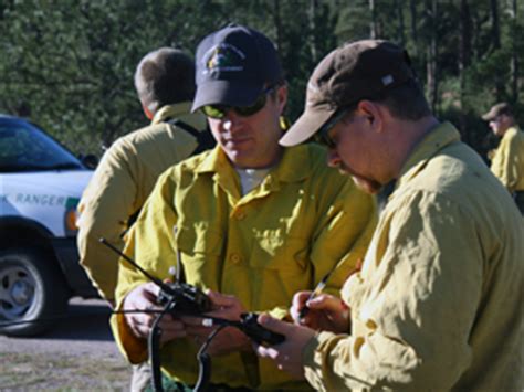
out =
[[190,102],[164,106],[150,126],[117,139],[84,190],[77,222],[81,264],[108,300],[115,298],[118,255],[98,239],[105,237],[122,250],[128,220],[139,211],[158,177],[197,148],[193,136],[164,123],[167,118],[180,119],[196,129],[206,129],[206,118],[190,114]]

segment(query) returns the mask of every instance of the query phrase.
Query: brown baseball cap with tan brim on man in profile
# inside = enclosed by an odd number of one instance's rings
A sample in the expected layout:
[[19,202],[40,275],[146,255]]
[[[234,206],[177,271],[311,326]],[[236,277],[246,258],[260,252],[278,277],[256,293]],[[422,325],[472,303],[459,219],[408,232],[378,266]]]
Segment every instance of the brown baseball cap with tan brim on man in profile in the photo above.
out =
[[295,146],[312,137],[332,116],[361,99],[415,77],[408,53],[382,40],[347,43],[318,63],[307,83],[304,113],[280,139]]

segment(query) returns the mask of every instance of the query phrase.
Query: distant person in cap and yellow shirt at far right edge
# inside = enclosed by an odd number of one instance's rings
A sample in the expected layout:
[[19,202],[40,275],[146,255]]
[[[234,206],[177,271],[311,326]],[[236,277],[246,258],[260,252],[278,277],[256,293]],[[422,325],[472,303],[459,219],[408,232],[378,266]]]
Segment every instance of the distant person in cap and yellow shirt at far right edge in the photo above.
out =
[[491,155],[491,171],[513,195],[524,214],[524,133],[518,128],[511,106],[500,103],[482,115],[501,139]]

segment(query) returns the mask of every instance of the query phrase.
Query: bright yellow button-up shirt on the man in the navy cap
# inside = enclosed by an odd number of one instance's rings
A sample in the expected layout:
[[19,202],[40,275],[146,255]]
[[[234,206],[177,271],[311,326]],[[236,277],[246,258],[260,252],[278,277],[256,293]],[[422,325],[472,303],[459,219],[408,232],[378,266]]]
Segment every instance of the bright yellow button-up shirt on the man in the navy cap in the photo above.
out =
[[[332,294],[339,292],[364,256],[375,225],[374,198],[328,168],[318,146],[285,149],[280,163],[243,197],[238,173],[217,147],[163,174],[129,232],[125,252],[164,279],[177,265],[178,250],[189,284],[234,295],[249,311],[283,318],[296,292],[313,288],[344,258],[327,287]],[[117,300],[145,282],[120,261]],[[146,359],[146,341],[129,333],[122,315],[113,317],[112,326],[130,362]],[[192,339],[164,346],[164,370],[195,384],[199,347]],[[211,374],[212,383],[230,386],[308,388],[254,352],[213,359]]]

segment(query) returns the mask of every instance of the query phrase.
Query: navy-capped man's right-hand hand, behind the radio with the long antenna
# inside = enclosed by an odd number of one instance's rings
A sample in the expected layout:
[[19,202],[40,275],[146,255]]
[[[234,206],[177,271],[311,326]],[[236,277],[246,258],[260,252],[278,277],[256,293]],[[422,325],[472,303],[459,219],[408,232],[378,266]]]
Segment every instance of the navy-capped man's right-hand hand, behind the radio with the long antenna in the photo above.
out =
[[[239,321],[240,315],[245,312],[242,304],[234,296],[223,295],[212,290],[209,290],[207,295],[213,305],[213,310],[206,315]],[[187,326],[186,330],[188,335],[199,345],[203,343],[208,336],[218,328],[216,326],[202,326],[202,318],[184,317],[182,320]],[[238,328],[226,327],[211,340],[207,351],[210,356],[222,356],[245,350],[251,350],[250,339]]]

